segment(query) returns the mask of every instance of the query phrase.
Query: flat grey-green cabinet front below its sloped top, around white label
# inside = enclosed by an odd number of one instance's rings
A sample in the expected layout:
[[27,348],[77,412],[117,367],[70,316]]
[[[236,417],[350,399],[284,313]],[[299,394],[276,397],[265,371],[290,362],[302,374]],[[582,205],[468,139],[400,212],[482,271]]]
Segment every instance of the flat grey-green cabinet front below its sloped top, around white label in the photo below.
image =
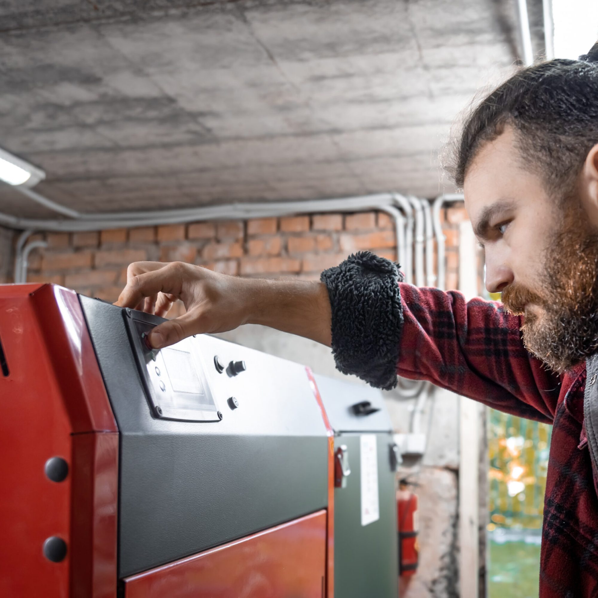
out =
[[361,462],[359,434],[341,434],[335,449],[349,449],[351,473],[345,488],[334,490],[335,598],[396,598],[398,542],[395,472],[390,469],[392,434],[376,434],[380,518],[361,525]]

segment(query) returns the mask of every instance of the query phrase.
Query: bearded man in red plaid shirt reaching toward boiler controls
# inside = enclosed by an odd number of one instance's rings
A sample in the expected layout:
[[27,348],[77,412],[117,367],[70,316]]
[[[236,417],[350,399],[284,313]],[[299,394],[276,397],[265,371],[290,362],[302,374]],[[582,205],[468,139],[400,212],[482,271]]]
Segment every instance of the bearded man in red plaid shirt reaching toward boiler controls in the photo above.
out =
[[542,598],[598,595],[598,44],[522,69],[472,112],[453,169],[502,304],[402,282],[367,252],[321,282],[136,263],[123,307],[166,315],[155,348],[263,324],[332,347],[337,367],[390,389],[429,380],[553,424]]

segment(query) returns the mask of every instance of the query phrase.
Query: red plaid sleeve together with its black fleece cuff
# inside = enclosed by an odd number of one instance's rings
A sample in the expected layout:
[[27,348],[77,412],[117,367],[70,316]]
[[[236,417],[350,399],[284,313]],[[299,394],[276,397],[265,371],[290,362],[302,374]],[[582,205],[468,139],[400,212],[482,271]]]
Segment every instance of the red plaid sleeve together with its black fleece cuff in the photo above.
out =
[[551,423],[560,379],[524,347],[500,303],[402,282],[370,252],[325,270],[337,369],[392,389],[397,373],[517,416]]

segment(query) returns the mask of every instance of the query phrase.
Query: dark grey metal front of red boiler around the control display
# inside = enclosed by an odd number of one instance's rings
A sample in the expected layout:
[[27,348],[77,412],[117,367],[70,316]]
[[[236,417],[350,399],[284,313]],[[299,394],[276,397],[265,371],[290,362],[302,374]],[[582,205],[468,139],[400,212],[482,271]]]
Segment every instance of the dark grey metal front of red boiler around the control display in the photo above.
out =
[[120,577],[327,507],[327,432],[303,366],[199,335],[206,363],[247,365],[206,372],[222,421],[155,419],[123,310],[81,304],[121,435]]

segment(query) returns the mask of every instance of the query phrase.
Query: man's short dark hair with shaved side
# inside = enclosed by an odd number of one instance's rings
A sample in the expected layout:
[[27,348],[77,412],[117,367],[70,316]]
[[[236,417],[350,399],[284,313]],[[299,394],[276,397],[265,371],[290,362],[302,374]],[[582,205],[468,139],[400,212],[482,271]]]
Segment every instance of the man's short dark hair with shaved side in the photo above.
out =
[[480,148],[506,127],[515,130],[525,166],[542,176],[548,191],[570,188],[598,143],[598,42],[579,60],[521,69],[482,100],[454,148],[457,187]]

